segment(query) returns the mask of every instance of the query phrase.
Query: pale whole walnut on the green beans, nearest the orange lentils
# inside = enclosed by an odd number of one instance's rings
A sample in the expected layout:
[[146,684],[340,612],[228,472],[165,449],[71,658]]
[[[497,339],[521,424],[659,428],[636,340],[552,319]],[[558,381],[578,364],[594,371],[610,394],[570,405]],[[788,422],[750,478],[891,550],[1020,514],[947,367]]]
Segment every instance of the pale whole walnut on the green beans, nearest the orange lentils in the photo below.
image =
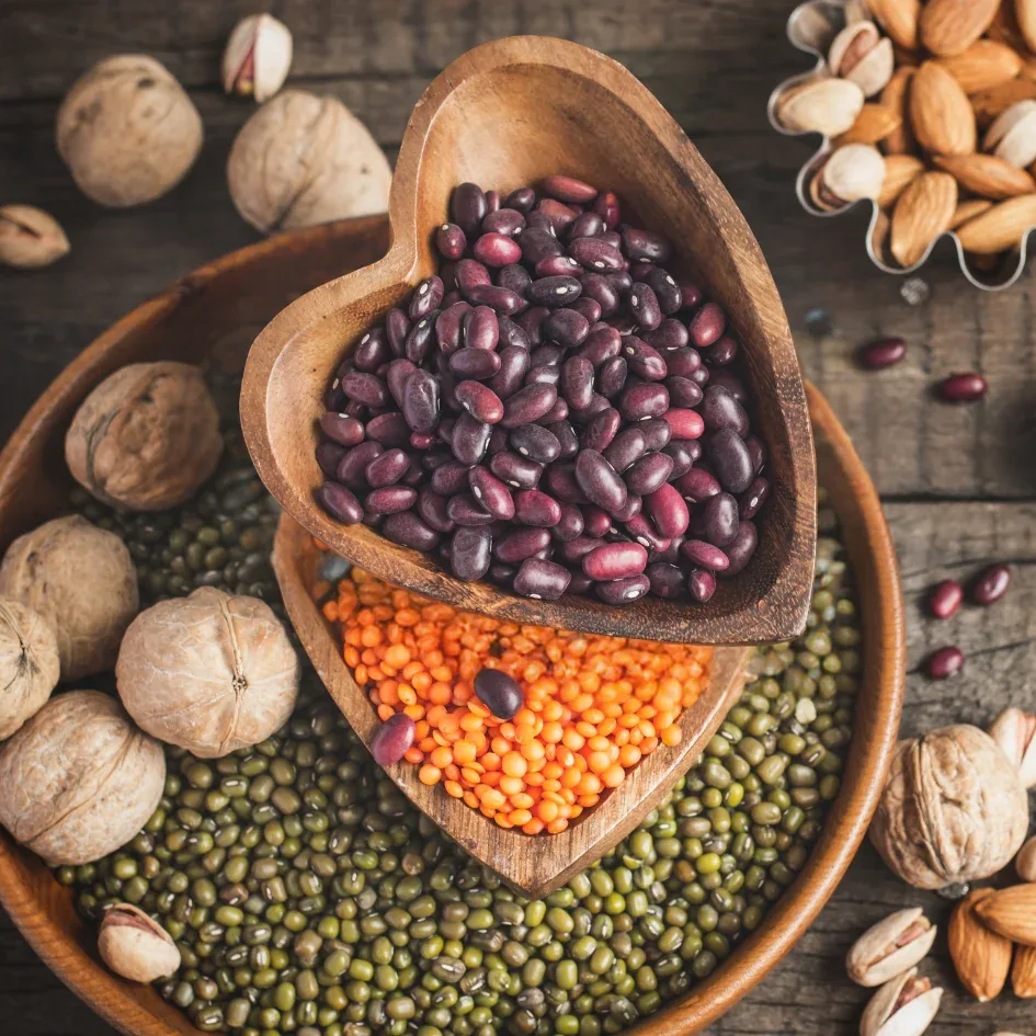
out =
[[267,604],[210,587],[141,612],[115,667],[119,697],[137,724],[203,759],[257,744],[283,726],[299,673]]

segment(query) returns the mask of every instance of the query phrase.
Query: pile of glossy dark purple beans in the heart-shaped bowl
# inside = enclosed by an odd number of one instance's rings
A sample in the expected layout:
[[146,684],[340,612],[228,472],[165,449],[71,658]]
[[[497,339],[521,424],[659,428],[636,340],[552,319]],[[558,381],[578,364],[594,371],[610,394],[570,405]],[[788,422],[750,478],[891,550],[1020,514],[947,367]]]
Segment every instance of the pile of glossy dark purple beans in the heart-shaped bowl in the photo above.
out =
[[722,309],[579,180],[463,183],[451,218],[335,372],[321,505],[527,597],[708,601],[770,491]]

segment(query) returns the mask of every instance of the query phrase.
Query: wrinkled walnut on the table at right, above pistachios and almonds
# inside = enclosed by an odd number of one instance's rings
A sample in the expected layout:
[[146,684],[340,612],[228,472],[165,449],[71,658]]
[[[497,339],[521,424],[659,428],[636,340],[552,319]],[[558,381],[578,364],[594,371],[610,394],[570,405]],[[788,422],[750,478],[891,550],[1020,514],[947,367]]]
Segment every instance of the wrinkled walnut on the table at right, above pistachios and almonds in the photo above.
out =
[[989,735],[960,724],[899,743],[870,841],[904,881],[941,889],[995,874],[1027,830],[1017,770]]

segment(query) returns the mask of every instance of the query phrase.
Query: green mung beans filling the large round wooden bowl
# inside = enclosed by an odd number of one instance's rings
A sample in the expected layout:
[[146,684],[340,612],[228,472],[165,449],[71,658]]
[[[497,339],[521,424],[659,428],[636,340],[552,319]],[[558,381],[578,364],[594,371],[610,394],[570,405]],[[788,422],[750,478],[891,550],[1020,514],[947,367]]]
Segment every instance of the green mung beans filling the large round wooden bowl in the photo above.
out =
[[[224,498],[226,520],[243,512],[252,527],[255,503]],[[189,520],[190,508],[177,513]],[[509,890],[411,806],[311,673],[288,724],[253,749],[200,760],[167,748],[166,794],[145,829],[57,879],[90,921],[127,901],[169,930],[183,967],[160,992],[204,1032],[617,1033],[760,925],[838,795],[861,635],[823,506],[820,527],[806,634],[758,650],[697,764],[543,900]],[[156,589],[187,593],[184,582]]]

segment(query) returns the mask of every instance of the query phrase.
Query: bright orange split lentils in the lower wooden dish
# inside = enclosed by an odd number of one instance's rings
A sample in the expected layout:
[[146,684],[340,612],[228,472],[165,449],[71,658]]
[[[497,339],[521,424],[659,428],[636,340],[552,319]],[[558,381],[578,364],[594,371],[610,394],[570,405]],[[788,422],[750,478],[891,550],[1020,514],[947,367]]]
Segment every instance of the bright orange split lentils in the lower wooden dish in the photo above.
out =
[[[323,596],[327,587],[316,592]],[[323,605],[382,720],[415,725],[403,756],[428,785],[526,834],[563,831],[661,744],[708,676],[709,648],[587,636],[462,612],[352,569]],[[524,693],[508,720],[474,690],[499,669]]]

